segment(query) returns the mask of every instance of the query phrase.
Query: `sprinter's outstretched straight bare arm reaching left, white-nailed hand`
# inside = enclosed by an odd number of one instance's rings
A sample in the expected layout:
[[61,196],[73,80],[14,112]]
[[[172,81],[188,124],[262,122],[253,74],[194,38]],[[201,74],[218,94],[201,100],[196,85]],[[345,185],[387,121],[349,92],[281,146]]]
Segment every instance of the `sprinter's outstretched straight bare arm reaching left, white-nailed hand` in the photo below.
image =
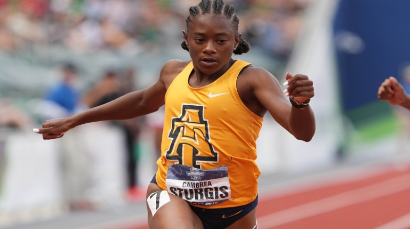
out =
[[43,139],[57,139],[68,130],[81,124],[125,120],[152,113],[164,105],[169,84],[185,65],[186,62],[168,61],[162,67],[158,81],[147,89],[134,91],[69,118],[47,120],[43,128],[33,129],[33,131],[43,134]]

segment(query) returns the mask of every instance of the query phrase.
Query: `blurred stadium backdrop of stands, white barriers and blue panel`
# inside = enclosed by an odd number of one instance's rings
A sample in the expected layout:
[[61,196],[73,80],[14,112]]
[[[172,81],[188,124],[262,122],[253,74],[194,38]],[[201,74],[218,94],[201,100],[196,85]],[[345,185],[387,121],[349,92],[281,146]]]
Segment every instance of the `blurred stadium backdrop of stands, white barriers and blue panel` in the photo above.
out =
[[[236,6],[240,32],[252,45],[250,53],[234,58],[267,68],[280,82],[289,71],[306,74],[315,84],[311,104],[317,133],[312,142],[294,140],[265,117],[258,139],[258,165],[264,177],[283,181],[340,165],[396,158],[403,144],[399,138],[403,124],[391,106],[377,100],[377,88],[388,76],[401,79],[410,62],[405,23],[410,3],[226,2]],[[180,48],[181,30],[188,7],[195,4],[0,1],[0,228],[30,228],[73,214],[61,180],[61,148],[69,140],[43,141],[31,132],[52,112],[43,98],[58,82],[61,63],[71,61],[79,67],[77,86],[83,91],[107,69],[134,70],[134,89],[144,88],[156,80],[165,61],[189,58]],[[17,123],[6,119],[10,113]],[[83,149],[90,181],[86,191],[97,211],[144,212],[140,199],[124,198],[124,136],[118,127],[103,123],[78,129],[67,138],[87,146]],[[141,129],[136,173],[144,189],[154,171],[155,147],[154,128],[147,121]]]

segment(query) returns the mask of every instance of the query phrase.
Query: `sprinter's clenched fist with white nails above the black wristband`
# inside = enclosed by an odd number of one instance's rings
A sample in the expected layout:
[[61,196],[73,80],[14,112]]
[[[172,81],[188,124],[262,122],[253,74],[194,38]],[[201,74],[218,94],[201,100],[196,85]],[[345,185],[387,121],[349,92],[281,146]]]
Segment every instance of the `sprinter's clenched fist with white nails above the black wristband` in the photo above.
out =
[[315,96],[313,89],[313,81],[308,76],[291,73],[286,74],[286,81],[288,82],[288,93],[299,103]]

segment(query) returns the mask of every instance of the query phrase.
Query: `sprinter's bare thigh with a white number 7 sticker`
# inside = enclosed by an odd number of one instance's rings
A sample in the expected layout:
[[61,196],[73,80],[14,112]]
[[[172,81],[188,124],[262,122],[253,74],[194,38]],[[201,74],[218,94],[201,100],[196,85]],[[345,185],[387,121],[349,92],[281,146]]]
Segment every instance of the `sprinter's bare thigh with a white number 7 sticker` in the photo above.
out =
[[146,203],[150,229],[203,229],[201,220],[185,200],[161,190],[154,183],[148,186]]

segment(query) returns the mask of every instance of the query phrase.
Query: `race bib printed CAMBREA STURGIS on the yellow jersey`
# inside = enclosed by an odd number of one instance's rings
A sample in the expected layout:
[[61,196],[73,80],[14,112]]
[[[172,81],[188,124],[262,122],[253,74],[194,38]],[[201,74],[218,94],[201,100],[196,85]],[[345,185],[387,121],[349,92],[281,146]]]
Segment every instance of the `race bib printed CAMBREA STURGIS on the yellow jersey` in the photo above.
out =
[[231,198],[226,166],[202,170],[187,165],[169,165],[165,184],[169,193],[193,204],[209,206]]

